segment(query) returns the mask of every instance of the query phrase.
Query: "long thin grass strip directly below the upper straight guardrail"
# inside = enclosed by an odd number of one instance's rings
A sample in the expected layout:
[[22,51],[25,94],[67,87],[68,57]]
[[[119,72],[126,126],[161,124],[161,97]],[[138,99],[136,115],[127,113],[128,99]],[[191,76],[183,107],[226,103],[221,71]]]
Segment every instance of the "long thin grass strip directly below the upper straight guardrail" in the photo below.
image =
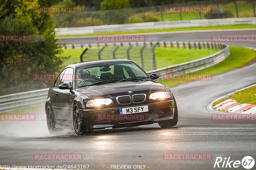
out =
[[77,35],[58,35],[56,37],[67,37],[67,36],[92,36],[92,35],[113,35],[113,34],[133,34],[133,33],[149,33],[149,32],[172,32],[172,31],[194,31],[194,30],[219,30],[219,29],[246,29],[256,28],[256,25],[222,25],[222,26],[206,26],[206,27],[192,27],[192,28],[169,28],[169,29],[158,29],[158,30],[140,30],[140,31],[121,31],[121,32],[101,32],[91,34],[77,34]]

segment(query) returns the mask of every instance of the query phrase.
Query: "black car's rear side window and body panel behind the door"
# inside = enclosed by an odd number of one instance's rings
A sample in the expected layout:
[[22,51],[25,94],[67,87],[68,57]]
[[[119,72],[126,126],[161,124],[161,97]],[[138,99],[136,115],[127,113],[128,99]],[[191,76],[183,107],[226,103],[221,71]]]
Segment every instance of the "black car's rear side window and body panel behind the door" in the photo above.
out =
[[58,75],[58,77],[54,81],[53,88],[51,88],[51,90],[50,90],[51,91],[50,97],[51,97],[51,102],[52,102],[52,112],[53,112],[53,116],[54,116],[55,121],[60,120],[60,117],[58,115],[58,105],[59,104],[57,103],[57,102],[59,102],[57,100],[57,96],[59,95],[59,90],[60,90],[58,88],[58,86],[63,83],[61,80],[62,80],[62,77],[63,77],[65,71],[66,71],[66,69],[64,69],[60,72],[60,74]]

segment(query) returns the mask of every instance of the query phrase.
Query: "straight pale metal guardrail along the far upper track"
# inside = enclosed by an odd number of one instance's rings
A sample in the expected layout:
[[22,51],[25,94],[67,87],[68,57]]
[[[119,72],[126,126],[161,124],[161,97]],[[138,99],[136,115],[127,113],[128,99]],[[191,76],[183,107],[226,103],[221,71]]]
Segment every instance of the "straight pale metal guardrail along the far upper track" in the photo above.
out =
[[182,21],[146,22],[135,24],[100,25],[85,27],[55,28],[56,35],[78,35],[100,32],[138,31],[168,28],[188,28],[218,25],[255,25],[256,18],[222,18],[222,19],[195,19]]

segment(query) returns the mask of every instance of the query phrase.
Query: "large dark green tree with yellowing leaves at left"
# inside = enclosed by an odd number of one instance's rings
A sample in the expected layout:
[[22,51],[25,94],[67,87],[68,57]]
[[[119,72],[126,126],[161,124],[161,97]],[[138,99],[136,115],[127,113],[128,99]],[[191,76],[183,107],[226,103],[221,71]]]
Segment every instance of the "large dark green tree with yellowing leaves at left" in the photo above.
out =
[[[34,7],[51,6],[51,0],[0,0],[0,35],[44,35],[44,42],[0,42],[2,87],[33,81],[33,74],[60,70],[61,44],[55,39],[51,17],[35,14]],[[52,82],[51,82],[52,83]]]

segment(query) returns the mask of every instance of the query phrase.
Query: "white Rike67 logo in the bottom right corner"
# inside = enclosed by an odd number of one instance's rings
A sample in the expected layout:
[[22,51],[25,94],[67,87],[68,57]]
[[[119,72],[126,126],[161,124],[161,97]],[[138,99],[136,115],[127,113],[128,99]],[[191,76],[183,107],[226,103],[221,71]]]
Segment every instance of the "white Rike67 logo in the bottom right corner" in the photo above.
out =
[[[251,169],[254,166],[254,159],[251,156],[245,156],[242,161],[240,160],[231,160],[230,157],[217,157],[214,163],[214,168],[238,168],[239,166],[243,166],[245,169]],[[239,168],[240,169],[240,168]]]

